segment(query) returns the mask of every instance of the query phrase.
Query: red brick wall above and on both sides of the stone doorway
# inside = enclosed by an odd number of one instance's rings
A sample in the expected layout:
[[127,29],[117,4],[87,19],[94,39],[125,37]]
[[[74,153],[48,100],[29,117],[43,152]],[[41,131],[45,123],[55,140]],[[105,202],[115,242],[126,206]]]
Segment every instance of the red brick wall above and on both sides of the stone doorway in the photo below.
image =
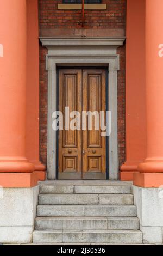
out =
[[[51,29],[79,28],[80,10],[58,10],[61,0],[39,1],[39,26],[47,31]],[[103,0],[107,10],[86,10],[84,28],[126,29],[126,0]],[[49,35],[50,36],[50,35]],[[118,71],[118,154],[119,163],[126,159],[125,145],[125,57],[126,47],[118,48],[120,71]],[[40,160],[47,162],[47,71],[45,70],[46,48],[40,45]]]

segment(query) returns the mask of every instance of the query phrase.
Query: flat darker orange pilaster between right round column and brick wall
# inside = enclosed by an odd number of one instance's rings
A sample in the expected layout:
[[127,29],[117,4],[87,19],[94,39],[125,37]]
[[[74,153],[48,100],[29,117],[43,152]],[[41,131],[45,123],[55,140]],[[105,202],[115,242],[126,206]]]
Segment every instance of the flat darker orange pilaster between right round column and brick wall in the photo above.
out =
[[120,179],[133,180],[145,157],[145,0],[127,0],[126,162],[120,168]]

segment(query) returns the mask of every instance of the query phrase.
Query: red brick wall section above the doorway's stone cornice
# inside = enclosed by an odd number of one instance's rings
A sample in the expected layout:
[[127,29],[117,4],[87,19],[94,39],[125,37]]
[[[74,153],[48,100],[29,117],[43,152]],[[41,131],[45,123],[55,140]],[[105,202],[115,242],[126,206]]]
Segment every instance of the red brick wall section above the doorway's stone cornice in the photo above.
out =
[[[40,0],[40,28],[76,28],[80,10],[58,10],[61,0]],[[107,10],[85,10],[85,28],[125,28],[126,0],[103,0]]]

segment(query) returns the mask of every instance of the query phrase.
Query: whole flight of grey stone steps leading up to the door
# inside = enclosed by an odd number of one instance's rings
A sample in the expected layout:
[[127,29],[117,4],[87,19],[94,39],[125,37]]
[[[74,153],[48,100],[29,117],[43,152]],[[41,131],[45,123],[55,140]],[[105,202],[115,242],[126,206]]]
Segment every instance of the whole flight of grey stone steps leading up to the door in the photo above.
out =
[[131,184],[41,182],[33,243],[142,243]]

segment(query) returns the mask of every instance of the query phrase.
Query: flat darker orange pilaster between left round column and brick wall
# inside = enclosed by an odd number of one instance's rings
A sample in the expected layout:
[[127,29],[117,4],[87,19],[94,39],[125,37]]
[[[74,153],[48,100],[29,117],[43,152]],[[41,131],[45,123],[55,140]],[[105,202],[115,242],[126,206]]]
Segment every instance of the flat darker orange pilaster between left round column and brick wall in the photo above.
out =
[[45,170],[39,161],[39,17],[38,1],[27,0],[27,118],[26,155],[35,170]]

